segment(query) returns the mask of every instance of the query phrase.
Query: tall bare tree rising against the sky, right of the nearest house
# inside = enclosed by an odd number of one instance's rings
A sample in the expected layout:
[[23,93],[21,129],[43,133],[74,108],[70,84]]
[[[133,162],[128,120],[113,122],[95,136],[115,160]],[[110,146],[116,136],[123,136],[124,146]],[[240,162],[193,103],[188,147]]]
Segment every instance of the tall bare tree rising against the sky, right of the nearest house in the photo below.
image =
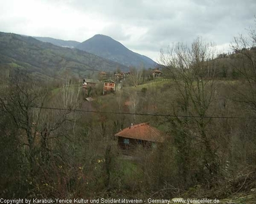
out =
[[180,172],[186,182],[188,182],[186,179],[189,179],[189,166],[193,165],[189,157],[193,155],[191,148],[195,143],[198,143],[198,148],[204,152],[201,158],[195,159],[198,161],[197,165],[201,166],[201,170],[206,167],[211,177],[218,173],[218,155],[216,148],[212,146],[214,138],[207,131],[207,125],[211,120],[204,119],[209,113],[216,92],[214,83],[216,61],[207,60],[214,56],[216,56],[214,45],[205,43],[201,38],[193,41],[191,47],[177,43],[168,49],[167,54],[161,52],[161,62],[168,70],[177,89],[177,106],[173,106],[173,112],[197,117],[194,119],[177,117],[171,120],[176,130],[175,143],[180,152],[178,154]]

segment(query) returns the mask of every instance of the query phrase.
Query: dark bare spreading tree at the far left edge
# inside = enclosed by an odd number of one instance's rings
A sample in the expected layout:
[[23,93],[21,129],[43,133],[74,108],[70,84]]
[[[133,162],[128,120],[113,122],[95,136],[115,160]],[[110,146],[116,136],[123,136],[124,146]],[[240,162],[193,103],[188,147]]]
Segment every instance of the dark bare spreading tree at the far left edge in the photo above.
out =
[[[10,115],[17,129],[22,131],[20,140],[29,148],[30,164],[36,160],[36,136],[42,115],[40,107],[44,106],[46,98],[47,89],[43,89],[42,84],[31,82],[28,75],[22,72],[12,74],[8,88],[4,89],[0,97],[3,112]],[[36,107],[40,110],[36,117],[33,117],[33,108]]]

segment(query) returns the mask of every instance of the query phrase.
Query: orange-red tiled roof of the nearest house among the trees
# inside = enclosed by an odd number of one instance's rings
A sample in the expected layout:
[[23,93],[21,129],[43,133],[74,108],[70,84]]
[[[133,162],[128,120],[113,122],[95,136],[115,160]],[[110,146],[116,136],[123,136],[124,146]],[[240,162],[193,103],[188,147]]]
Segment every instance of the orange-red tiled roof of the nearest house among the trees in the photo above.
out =
[[132,138],[137,140],[147,140],[151,142],[163,142],[164,138],[161,132],[148,125],[148,122],[136,124],[131,126],[131,129],[125,128],[115,136],[122,136],[123,138]]

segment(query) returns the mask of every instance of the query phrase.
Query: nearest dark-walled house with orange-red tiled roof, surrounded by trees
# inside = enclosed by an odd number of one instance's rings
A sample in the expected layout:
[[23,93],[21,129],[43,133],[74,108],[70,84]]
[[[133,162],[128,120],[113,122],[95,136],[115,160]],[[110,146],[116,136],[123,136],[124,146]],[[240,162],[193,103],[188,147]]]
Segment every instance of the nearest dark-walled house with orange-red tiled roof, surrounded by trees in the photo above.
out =
[[164,141],[162,133],[149,125],[149,122],[136,124],[123,129],[115,136],[121,149],[133,149],[136,145],[143,147],[156,147],[157,143]]

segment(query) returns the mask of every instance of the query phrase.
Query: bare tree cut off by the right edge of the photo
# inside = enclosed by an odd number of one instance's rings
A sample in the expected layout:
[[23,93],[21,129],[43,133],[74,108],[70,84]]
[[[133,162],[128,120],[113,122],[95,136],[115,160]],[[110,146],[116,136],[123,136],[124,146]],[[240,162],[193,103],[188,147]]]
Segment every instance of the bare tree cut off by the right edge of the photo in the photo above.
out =
[[[256,18],[255,18],[256,19]],[[244,116],[255,117],[256,113],[256,31],[250,29],[246,36],[239,35],[234,38],[230,48],[235,52],[234,63],[232,66],[239,73],[239,81],[232,85],[233,99],[238,106],[243,110],[241,112]],[[237,138],[240,142],[237,146],[243,149],[241,150],[241,163],[244,165],[255,166],[255,121],[244,120],[244,124],[239,124],[243,129],[243,136]],[[241,131],[241,130],[239,130]],[[237,149],[232,149],[232,155],[236,155]],[[244,168],[244,166],[243,166]]]

